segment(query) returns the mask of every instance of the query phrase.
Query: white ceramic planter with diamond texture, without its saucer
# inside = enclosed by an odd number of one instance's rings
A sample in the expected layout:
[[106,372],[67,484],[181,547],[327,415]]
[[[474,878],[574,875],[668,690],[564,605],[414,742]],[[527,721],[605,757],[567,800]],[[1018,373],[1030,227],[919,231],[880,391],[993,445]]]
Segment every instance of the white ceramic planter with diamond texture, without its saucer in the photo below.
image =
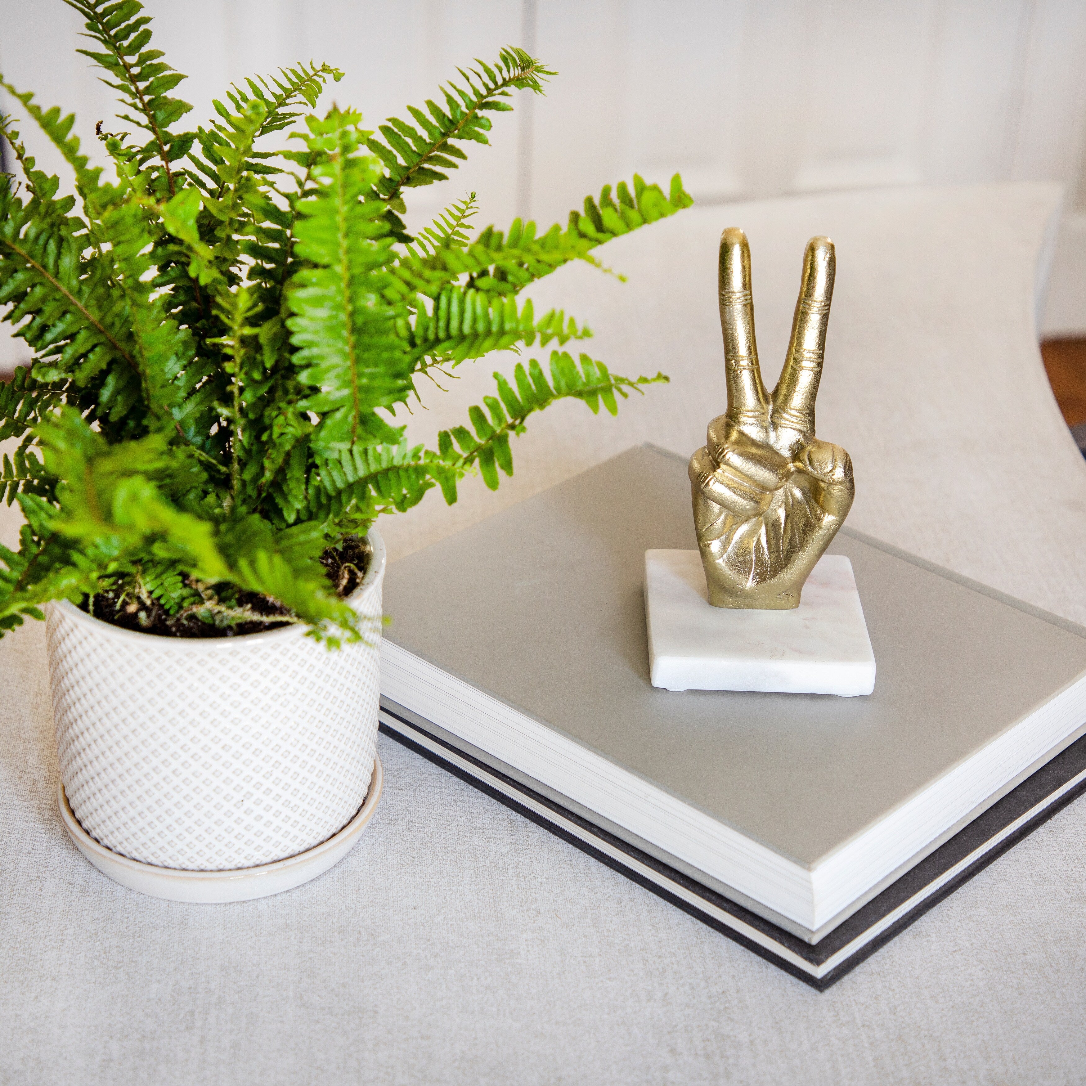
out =
[[49,605],[61,783],[91,838],[144,864],[231,871],[298,857],[353,824],[380,697],[386,553],[376,530],[369,542],[350,599],[366,639],[338,651],[300,626],[163,637]]

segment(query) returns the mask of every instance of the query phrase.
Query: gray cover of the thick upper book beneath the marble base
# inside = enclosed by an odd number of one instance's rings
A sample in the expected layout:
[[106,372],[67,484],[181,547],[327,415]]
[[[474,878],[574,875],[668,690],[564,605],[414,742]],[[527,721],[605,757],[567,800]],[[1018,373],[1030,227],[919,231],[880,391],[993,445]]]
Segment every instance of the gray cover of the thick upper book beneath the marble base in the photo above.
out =
[[[853,879],[810,920],[781,915],[651,836],[594,818],[591,796],[569,797],[609,832],[809,940],[1082,733],[1086,631],[847,526],[831,553],[853,564],[877,661],[873,694],[657,690],[643,601],[644,552],[655,547],[696,547],[690,488],[682,462],[640,447],[390,566],[386,639],[815,873],[876,842],[873,831],[895,812],[919,811],[918,799],[940,781],[960,791],[956,770],[1000,744],[1021,746],[1015,727],[1049,707],[1048,731],[1034,736],[1041,754],[1002,779],[970,780],[973,798],[933,833],[919,824],[922,812],[910,815],[918,844],[906,860],[885,870],[880,857],[864,860],[860,892]],[[386,693],[420,711],[402,684]],[[430,719],[447,728],[438,716]],[[460,737],[483,758],[493,754]],[[498,765],[523,768],[508,758]],[[553,788],[533,779],[544,793]]]

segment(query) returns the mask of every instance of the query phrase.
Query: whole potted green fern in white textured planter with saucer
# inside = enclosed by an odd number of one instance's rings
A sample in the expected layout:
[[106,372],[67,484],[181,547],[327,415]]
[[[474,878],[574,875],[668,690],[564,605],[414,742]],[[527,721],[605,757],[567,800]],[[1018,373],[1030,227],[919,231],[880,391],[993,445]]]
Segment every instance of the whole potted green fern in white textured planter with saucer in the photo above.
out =
[[[18,551],[0,548],[0,632],[45,607],[60,801],[85,853],[163,896],[257,896],[327,867],[376,801],[378,517],[434,489],[455,502],[466,472],[496,488],[510,437],[558,400],[614,414],[666,380],[574,361],[561,349],[588,329],[517,295],[691,201],[678,177],[667,194],[635,177],[565,227],[469,241],[467,198],[412,237],[407,192],[553,72],[505,49],[370,131],[352,110],[307,112],[341,73],[300,64],[181,130],[184,76],[141,5],[66,2],[129,132],[100,124],[111,168],[93,166],[72,116],[0,79],[76,192],[0,122],[21,167],[0,186],[0,306],[35,356],[0,384],[0,494],[25,520]],[[470,426],[405,443],[396,412],[421,376],[535,344],[548,365],[495,374]],[[230,877],[178,889],[142,869]]]

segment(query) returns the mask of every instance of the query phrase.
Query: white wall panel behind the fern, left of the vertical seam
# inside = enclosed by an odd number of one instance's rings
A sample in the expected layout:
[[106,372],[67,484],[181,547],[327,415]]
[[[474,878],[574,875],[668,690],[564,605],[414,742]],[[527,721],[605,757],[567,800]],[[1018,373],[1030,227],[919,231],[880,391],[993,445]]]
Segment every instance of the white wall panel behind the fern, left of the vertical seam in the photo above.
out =
[[[521,26],[520,5],[507,0],[148,0],[146,8],[154,16],[155,46],[189,76],[176,93],[194,108],[181,122],[191,126],[206,123],[212,100],[223,98],[230,83],[312,59],[345,73],[330,86],[321,108],[332,101],[355,106],[376,127],[393,113],[405,116],[408,103],[440,102],[440,85],[459,78],[457,65],[470,64],[476,55],[492,60],[519,37]],[[42,17],[47,11],[48,20]],[[91,62],[74,55],[77,46],[86,45],[80,29],[78,15],[60,0],[0,2],[0,65],[7,77],[37,90],[42,102],[74,109],[76,130],[94,154],[96,121],[105,118],[108,128],[126,126],[113,119],[111,92],[97,81]],[[21,112],[17,103],[4,101],[3,108]],[[512,215],[517,119],[495,113],[490,118],[494,146],[478,148],[447,186],[417,190],[422,213],[478,189],[492,215]],[[24,137],[42,162],[64,175],[59,154],[33,126],[26,126]]]

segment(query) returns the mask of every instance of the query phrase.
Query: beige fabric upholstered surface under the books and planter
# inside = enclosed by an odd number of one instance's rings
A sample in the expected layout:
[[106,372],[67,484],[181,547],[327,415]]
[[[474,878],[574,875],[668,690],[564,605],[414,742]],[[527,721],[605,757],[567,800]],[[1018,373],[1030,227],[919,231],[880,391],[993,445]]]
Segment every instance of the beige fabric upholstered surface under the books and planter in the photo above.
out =
[[[566,268],[536,310],[565,304],[613,369],[672,383],[618,419],[580,404],[533,419],[498,494],[431,495],[381,526],[392,556],[630,444],[687,454],[724,397],[720,229],[750,238],[767,383],[804,243],[829,233],[818,432],[856,464],[850,523],[1086,622],[1086,462],[1034,317],[1058,199],[1018,185],[733,204],[611,242],[627,283]],[[458,421],[512,364],[463,367],[412,430]],[[0,514],[5,540],[14,528]],[[141,897],[65,837],[51,728],[29,624],[0,641],[4,1086],[1086,1082],[1086,803],[819,995],[383,737],[381,807],[321,879],[242,905]]]

